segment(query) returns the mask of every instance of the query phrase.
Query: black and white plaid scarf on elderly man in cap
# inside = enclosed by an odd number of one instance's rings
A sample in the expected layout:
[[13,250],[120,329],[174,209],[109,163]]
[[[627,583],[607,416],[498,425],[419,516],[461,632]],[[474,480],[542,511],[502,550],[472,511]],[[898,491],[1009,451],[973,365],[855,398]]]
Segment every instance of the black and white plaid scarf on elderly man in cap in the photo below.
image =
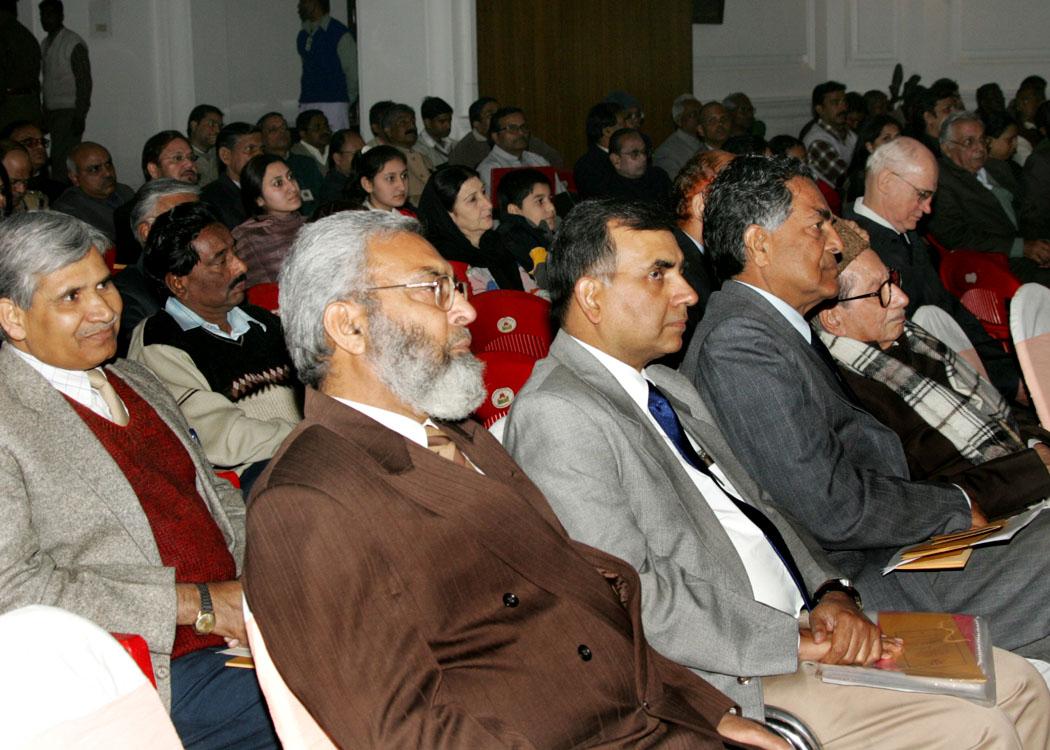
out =
[[881,349],[853,338],[817,331],[841,367],[889,388],[974,464],[1025,447],[1006,401],[968,362],[914,322],[904,324],[898,346],[944,367],[945,388]]

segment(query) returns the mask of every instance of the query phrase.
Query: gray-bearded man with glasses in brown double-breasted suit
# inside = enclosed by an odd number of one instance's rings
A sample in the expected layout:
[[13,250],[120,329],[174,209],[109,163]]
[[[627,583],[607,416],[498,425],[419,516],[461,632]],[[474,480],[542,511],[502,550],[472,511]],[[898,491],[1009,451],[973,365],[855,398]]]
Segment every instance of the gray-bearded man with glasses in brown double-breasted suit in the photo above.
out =
[[645,644],[633,568],[462,421],[475,313],[418,232],[335,214],[281,272],[314,390],[253,493],[245,588],[284,681],[340,747],[782,747]]

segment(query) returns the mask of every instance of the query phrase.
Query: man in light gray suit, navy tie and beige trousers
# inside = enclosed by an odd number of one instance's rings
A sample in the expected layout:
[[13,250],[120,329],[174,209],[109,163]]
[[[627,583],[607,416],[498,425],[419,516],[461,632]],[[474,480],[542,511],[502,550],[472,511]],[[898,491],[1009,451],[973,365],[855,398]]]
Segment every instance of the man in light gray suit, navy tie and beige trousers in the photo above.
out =
[[[934,723],[949,743],[986,731],[1006,747],[1020,747],[1018,733],[1045,742],[1046,721],[1034,713],[1014,725],[1013,699],[975,709],[824,685],[812,666],[800,668],[803,660],[870,663],[882,643],[857,592],[751,480],[691,384],[649,366],[681,346],[696,303],[672,227],[656,209],[618,201],[588,201],[569,214],[551,252],[561,330],[510,411],[505,442],[514,459],[570,535],[638,570],[652,644],[744,715],[760,718],[764,697],[835,747],[929,747]],[[1025,685],[1021,693],[1050,705],[1023,660],[998,652],[999,665],[1000,676]]]

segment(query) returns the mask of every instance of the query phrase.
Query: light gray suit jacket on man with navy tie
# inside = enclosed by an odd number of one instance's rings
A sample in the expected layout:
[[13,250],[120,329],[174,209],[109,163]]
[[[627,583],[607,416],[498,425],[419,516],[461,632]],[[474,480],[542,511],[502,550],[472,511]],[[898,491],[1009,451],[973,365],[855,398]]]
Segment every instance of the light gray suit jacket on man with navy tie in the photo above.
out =
[[[776,523],[810,590],[836,577],[748,477],[689,382],[659,366],[646,373],[740,497]],[[798,620],[755,601],[729,536],[675,453],[565,332],[514,399],[505,443],[570,536],[638,570],[650,643],[760,718],[761,681],[749,678],[795,671]]]

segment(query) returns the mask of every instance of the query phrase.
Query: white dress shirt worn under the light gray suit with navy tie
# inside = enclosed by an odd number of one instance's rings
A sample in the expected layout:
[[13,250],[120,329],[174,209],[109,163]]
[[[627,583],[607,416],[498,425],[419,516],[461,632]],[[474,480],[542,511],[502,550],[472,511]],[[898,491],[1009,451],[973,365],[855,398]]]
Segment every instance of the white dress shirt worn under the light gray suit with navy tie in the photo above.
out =
[[[630,364],[622,362],[615,357],[581,341],[579,338],[574,338],[574,340],[594,355],[594,358],[598,360],[602,367],[609,371],[609,374],[616,379],[616,382],[627,392],[631,400],[649,417],[649,422],[656,433],[664,438],[664,442],[671,450],[671,453],[674,454],[674,457],[678,460],[686,474],[689,475],[693,484],[696,485],[700,496],[715,514],[718,522],[722,525],[730,541],[733,543],[733,547],[736,549],[736,554],[740,557],[740,562],[748,572],[748,578],[751,580],[751,589],[755,601],[788,612],[792,617],[797,616],[803,605],[802,596],[795,585],[795,581],[792,580],[791,574],[788,572],[788,568],[780,560],[773,545],[765,538],[765,535],[762,534],[762,530],[740,512],[736,504],[726,495],[726,492],[718,486],[718,483],[712,481],[702,472],[694,468],[682,457],[674,442],[664,432],[659,422],[649,412],[649,381],[645,377],[644,372],[638,372]],[[693,440],[688,432],[686,432],[686,437],[694,449],[699,449],[699,445],[696,444],[696,441]],[[718,464],[712,463],[710,470],[718,477],[719,482],[721,482],[728,492],[739,497],[739,493],[737,493],[729,478],[718,468]]]

